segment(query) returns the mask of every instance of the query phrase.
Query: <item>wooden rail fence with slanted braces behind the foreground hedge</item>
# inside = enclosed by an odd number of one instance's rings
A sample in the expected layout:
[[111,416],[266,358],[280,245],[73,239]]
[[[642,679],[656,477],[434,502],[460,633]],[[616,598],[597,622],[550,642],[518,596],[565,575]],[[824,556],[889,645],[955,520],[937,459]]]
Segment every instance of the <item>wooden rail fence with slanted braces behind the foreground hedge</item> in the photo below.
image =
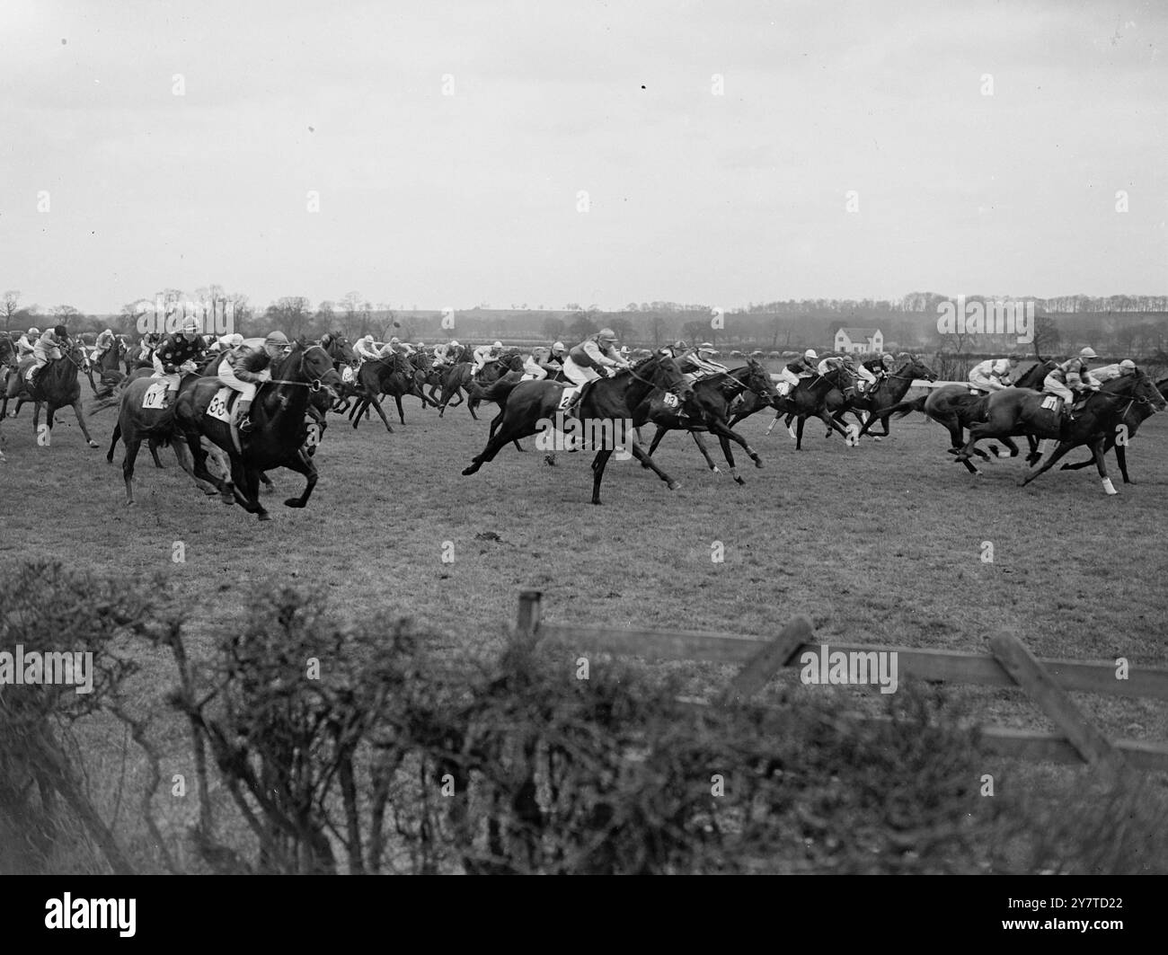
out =
[[[703,661],[738,664],[730,696],[748,699],[758,693],[783,667],[798,667],[806,651],[819,653],[811,621],[794,616],[773,640],[735,633],[698,630],[614,629],[544,623],[540,591],[522,591],[516,630],[521,636],[573,651],[600,651],[646,660]],[[898,678],[1018,688],[1059,727],[1045,733],[1004,726],[980,726],[985,747],[993,753],[1051,762],[1087,762],[1105,778],[1125,766],[1168,771],[1168,744],[1107,739],[1084,717],[1069,691],[1106,696],[1168,699],[1168,670],[1131,667],[1117,677],[1113,662],[1040,660],[1013,634],[989,640],[990,654],[927,650],[911,647],[869,647],[832,643],[830,650],[895,653]]]

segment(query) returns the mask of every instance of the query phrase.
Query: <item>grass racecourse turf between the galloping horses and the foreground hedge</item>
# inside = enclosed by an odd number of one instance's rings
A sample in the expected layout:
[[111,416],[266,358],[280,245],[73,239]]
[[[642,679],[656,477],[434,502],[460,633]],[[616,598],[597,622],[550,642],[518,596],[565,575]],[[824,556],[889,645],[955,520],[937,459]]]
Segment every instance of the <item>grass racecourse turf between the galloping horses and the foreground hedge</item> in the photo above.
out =
[[[324,588],[342,616],[406,615],[442,635],[443,649],[471,654],[501,641],[517,592],[535,587],[550,621],[765,636],[804,613],[826,642],[980,650],[1009,629],[1038,656],[1168,665],[1160,416],[1129,449],[1138,483],[1120,483],[1113,468],[1114,497],[1093,468],[1051,472],[1024,489],[1021,460],[992,461],[972,478],[945,453],[945,432],[916,416],[854,449],[813,423],[795,453],[781,426],[764,437],[770,416],[760,413],[739,430],[766,467],[738,455],[744,487],[708,472],[675,433],[658,458],[680,490],[613,460],[605,504],[593,507],[591,455],[561,454],[549,467],[541,453],[507,449],[464,478],[489,410],[473,421],[465,407],[440,420],[413,399],[405,407],[408,424],[395,423],[394,434],[380,423],[354,432],[333,416],[308,508],[279,503],[301,479],[274,473],[267,523],[204,497],[169,452],[165,470],[139,456],[138,504],[126,508],[120,451],[107,465],[105,445],[88,448],[68,414],[53,446],[37,447],[26,409],[2,425],[0,555],[8,566],[37,557],[162,574],[168,597],[192,607],[196,648],[242,615],[256,587],[294,584]],[[103,442],[114,421],[104,414],[92,424]],[[185,563],[172,560],[175,542]],[[722,563],[711,559],[716,542]],[[144,690],[160,709],[164,672],[160,663],[161,678]],[[700,683],[722,677],[695,674]],[[954,696],[986,722],[1054,729],[1013,691]],[[1077,700],[1110,734],[1168,739],[1154,700]],[[111,743],[111,767],[118,753]]]

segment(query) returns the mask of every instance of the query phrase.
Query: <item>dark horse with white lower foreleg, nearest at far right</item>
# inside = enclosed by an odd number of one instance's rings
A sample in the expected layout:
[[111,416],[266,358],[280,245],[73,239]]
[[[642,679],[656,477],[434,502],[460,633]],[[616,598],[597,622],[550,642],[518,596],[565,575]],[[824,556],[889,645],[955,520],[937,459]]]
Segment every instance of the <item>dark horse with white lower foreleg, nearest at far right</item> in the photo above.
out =
[[1058,447],[1047,455],[1041,466],[1033,468],[1018,482],[1026,487],[1035,478],[1050,467],[1068,451],[1079,445],[1089,445],[1094,456],[1099,479],[1107,494],[1117,494],[1103,448],[1108,434],[1115,433],[1115,426],[1122,421],[1132,404],[1147,405],[1152,411],[1162,411],[1163,395],[1156,389],[1152,378],[1145,372],[1124,375],[1105,382],[1084,403],[1073,420],[1065,419],[1062,409],[1043,407],[1045,398],[1030,389],[1007,388],[995,391],[986,399],[986,420],[969,428],[969,439],[959,451],[951,449],[958,460],[966,460],[972,453],[974,442],[982,438],[999,438],[1015,434],[1033,434],[1036,438],[1058,439]]

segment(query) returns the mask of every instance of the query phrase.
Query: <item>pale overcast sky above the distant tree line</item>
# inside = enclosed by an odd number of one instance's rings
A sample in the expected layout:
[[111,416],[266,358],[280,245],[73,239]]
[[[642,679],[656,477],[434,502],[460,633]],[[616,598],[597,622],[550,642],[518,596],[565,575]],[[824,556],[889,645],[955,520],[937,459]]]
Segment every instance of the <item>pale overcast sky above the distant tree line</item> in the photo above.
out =
[[4,0],[0,131],[42,309],[1168,291],[1162,2]]

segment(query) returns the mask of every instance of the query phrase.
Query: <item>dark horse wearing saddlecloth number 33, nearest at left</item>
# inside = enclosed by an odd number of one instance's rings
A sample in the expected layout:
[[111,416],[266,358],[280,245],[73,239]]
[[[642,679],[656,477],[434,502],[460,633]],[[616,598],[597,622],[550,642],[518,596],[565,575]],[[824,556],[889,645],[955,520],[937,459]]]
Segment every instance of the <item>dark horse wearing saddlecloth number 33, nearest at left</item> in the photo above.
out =
[[[305,475],[307,486],[304,493],[299,497],[288,497],[284,504],[303,508],[308,503],[318,476],[311,454],[304,449],[310,391],[325,388],[335,396],[340,382],[341,376],[325,349],[299,339],[285,357],[273,363],[272,378],[256,392],[251,403],[253,426],[242,435],[242,453],[235,449],[228,421],[207,413],[222,386],[217,378],[199,378],[189,390],[180,390],[154,433],[158,437],[181,435],[194,459],[196,479],[215,485],[221,494],[232,495],[244,510],[260,521],[270,521],[271,515],[259,503],[262,473],[286,467]],[[223,413],[230,414],[230,411],[224,409]],[[230,480],[223,481],[207,469],[207,452],[202,447],[204,437],[227,453],[231,462]],[[137,446],[133,453],[137,453]],[[128,447],[125,469],[128,490],[133,475],[133,455]]]

